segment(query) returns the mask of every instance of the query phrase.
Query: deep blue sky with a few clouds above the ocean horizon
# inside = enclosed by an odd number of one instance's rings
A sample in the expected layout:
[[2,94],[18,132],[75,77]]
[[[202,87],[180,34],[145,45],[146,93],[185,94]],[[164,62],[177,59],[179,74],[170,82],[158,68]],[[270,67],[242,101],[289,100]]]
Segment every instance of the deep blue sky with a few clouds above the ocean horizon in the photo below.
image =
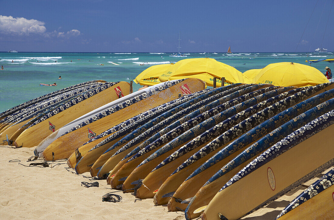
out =
[[332,2],[2,1],[0,51],[334,51]]

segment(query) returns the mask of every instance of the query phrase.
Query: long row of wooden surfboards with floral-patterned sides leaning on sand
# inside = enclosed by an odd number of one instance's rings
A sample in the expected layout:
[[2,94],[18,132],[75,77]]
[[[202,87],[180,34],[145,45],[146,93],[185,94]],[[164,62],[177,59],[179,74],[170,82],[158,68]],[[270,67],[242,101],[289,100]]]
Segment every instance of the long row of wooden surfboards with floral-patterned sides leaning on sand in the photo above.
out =
[[[186,219],[238,219],[333,165],[333,83],[204,88],[198,79],[165,82],[76,114],[53,131],[36,125],[59,113],[31,123],[9,141],[37,146],[45,160],[66,158],[76,173],[107,178],[136,198],[184,210]],[[333,213],[326,207],[318,213]]]

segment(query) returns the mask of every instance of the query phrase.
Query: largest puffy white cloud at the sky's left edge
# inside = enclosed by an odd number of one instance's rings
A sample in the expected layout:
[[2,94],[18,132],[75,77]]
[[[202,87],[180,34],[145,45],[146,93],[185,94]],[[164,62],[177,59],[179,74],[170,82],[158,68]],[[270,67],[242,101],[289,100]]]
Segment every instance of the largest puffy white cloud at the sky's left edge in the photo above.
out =
[[7,33],[27,34],[44,33],[44,22],[35,19],[13,18],[12,16],[0,15],[0,31]]

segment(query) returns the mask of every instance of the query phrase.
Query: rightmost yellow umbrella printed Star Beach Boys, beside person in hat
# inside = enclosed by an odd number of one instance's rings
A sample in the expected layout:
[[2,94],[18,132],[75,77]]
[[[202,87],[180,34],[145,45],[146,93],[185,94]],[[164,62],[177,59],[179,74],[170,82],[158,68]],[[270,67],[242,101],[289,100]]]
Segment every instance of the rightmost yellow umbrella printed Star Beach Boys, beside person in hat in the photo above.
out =
[[269,83],[274,86],[314,86],[329,82],[316,68],[299,63],[272,63],[253,78],[253,83]]

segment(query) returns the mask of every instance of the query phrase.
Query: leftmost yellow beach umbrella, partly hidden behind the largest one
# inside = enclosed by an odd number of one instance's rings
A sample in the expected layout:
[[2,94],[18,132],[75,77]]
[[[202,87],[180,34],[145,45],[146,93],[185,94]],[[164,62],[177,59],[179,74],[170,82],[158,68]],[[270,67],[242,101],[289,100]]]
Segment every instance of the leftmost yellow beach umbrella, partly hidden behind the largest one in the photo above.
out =
[[137,84],[139,83],[142,86],[153,86],[161,83],[158,77],[172,65],[173,63],[150,66],[149,68],[141,72],[133,81]]

